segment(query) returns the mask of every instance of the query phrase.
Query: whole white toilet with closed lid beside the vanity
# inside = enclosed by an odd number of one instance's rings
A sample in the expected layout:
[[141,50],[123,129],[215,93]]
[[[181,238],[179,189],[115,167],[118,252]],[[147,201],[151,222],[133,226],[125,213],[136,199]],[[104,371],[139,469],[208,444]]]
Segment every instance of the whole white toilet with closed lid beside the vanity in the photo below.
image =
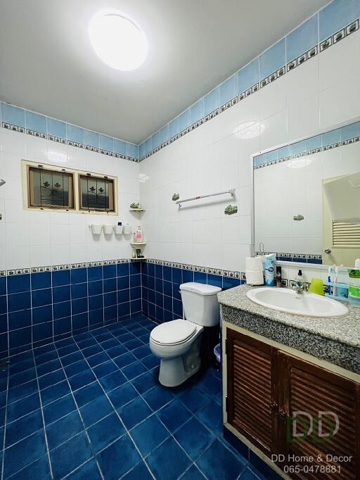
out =
[[180,285],[185,319],[172,320],[150,333],[150,349],[161,358],[159,381],[177,386],[200,369],[200,339],[204,327],[219,323],[219,286],[188,282]]

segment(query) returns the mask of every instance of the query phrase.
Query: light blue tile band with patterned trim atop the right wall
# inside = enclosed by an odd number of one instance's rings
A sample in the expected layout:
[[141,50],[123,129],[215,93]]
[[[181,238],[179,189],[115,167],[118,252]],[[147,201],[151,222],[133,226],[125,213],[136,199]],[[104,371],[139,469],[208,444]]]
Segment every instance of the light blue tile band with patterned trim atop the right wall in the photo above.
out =
[[[359,0],[333,0],[139,146],[140,160],[359,30]],[[354,59],[354,61],[356,61]]]

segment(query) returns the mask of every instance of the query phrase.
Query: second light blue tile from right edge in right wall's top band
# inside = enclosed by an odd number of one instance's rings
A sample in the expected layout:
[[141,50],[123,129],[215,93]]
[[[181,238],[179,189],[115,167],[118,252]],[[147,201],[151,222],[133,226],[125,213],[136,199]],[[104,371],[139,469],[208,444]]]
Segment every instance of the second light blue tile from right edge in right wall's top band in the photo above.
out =
[[318,15],[316,14],[286,37],[286,61],[294,60],[318,42]]

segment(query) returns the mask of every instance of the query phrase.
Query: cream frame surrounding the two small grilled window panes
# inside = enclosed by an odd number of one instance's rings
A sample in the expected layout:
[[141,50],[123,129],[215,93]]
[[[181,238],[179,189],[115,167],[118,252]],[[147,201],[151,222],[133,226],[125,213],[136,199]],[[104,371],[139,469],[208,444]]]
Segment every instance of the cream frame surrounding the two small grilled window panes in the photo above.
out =
[[[72,195],[74,198],[72,208],[58,208],[51,206],[31,206],[30,202],[30,168],[44,168],[44,170],[51,170],[53,172],[64,172],[72,175]],[[91,215],[118,215],[118,192],[117,192],[117,177],[112,175],[104,175],[100,172],[86,172],[85,170],[75,170],[72,168],[63,168],[59,165],[51,165],[49,163],[31,162],[29,160],[22,160],[22,172],[23,172],[23,208],[24,210],[44,210],[48,212],[68,212],[68,213],[83,213]],[[91,176],[96,178],[105,178],[113,182],[113,203],[114,209],[112,211],[106,210],[88,210],[82,209],[80,195],[81,190],[79,188],[80,177]]]

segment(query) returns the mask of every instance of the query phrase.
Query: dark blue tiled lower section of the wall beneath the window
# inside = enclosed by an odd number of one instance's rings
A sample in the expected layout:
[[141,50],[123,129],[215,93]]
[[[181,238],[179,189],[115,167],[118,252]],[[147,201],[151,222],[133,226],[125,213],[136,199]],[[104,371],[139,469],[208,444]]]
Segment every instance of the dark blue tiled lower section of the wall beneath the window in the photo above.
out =
[[129,260],[0,277],[0,357],[141,310],[141,265]]

